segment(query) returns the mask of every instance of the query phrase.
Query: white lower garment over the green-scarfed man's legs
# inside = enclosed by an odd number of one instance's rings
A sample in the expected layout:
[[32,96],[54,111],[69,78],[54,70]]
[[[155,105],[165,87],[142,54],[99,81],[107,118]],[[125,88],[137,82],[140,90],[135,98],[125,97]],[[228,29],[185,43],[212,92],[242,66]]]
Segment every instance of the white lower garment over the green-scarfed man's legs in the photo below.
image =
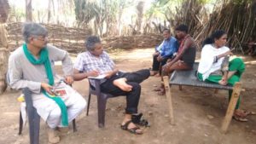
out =
[[[83,112],[86,101],[84,98],[79,95],[77,91],[72,89],[67,84],[58,84],[58,86],[55,87],[56,89],[59,88],[65,88],[67,91],[67,95],[61,96],[61,99],[65,102],[67,106],[67,117],[68,117],[68,123],[71,122],[74,118],[76,118],[81,112]],[[38,95],[32,95],[38,97]],[[46,121],[46,123],[49,125],[50,128],[55,127],[62,127],[61,124],[61,108],[58,107],[58,105],[55,103],[55,101],[45,97],[45,95],[42,94],[42,98],[33,99],[33,106],[36,107],[38,114],[41,116],[41,118]],[[41,103],[44,103],[44,106],[41,105]],[[21,112],[21,118],[23,120],[23,125],[26,124],[26,103],[21,102],[20,103],[20,112]]]

